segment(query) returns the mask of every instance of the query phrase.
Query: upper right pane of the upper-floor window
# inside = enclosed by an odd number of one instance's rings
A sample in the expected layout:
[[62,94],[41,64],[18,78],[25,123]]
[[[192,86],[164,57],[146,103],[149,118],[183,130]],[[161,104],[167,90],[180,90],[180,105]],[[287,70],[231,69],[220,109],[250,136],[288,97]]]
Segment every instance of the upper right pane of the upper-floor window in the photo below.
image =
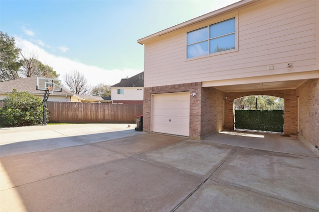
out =
[[209,38],[215,38],[232,32],[235,32],[235,18],[209,26]]

